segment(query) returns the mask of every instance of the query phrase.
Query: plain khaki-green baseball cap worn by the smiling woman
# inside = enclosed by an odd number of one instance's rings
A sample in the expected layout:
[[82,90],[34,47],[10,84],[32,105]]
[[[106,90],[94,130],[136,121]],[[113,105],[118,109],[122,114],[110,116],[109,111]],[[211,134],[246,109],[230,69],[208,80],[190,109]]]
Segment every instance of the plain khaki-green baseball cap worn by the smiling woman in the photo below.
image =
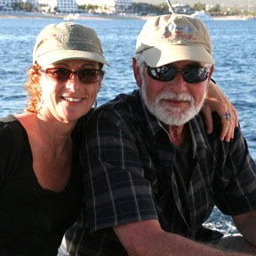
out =
[[73,22],[46,26],[37,36],[33,64],[49,65],[60,60],[93,60],[106,64],[100,39],[92,28]]

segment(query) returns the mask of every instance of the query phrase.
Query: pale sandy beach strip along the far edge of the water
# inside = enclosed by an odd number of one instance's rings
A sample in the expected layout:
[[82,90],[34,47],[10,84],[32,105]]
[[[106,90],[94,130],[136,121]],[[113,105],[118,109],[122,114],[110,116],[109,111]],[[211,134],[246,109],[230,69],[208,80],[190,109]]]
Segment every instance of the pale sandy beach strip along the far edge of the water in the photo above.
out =
[[[55,15],[55,14],[42,14],[36,12],[29,12],[29,13],[4,13],[0,12],[0,18],[33,18],[33,19],[60,19],[65,20],[65,17],[68,15]],[[148,20],[152,16],[136,16],[136,15],[107,15],[107,14],[100,14],[100,15],[80,15],[77,20]],[[211,17],[212,20],[253,20],[255,17],[241,17],[241,16],[216,16]],[[66,20],[68,21],[68,20]]]

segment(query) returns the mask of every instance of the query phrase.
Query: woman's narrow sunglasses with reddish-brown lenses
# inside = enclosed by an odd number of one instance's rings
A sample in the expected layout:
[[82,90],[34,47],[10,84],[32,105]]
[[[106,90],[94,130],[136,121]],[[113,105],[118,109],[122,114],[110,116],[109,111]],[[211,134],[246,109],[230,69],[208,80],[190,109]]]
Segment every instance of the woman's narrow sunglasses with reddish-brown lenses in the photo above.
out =
[[46,68],[40,69],[41,72],[44,72],[46,76],[53,80],[58,80],[61,82],[68,81],[72,74],[78,76],[79,81],[82,84],[92,84],[100,81],[104,75],[104,71],[101,69],[83,69],[80,71],[71,71],[66,68]]

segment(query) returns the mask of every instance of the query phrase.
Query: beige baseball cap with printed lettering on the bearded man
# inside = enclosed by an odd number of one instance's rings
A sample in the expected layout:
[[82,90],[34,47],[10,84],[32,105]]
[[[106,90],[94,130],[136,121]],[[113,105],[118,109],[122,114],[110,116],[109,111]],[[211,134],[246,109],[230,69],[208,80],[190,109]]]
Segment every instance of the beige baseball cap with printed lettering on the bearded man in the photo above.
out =
[[183,14],[149,19],[138,36],[136,53],[142,53],[152,68],[180,60],[215,63],[212,40],[204,22]]

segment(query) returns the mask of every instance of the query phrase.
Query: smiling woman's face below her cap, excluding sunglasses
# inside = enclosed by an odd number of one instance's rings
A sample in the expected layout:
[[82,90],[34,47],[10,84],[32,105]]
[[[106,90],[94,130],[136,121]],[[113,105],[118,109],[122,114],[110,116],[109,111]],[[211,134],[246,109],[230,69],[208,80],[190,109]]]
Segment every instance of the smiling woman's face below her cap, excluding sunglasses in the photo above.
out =
[[63,60],[44,66],[42,69],[46,70],[48,75],[45,71],[40,72],[39,84],[42,88],[43,102],[40,115],[64,123],[76,121],[92,108],[100,91],[103,76],[100,76],[97,82],[82,83],[77,74],[71,73],[65,81],[61,81],[52,78],[51,72],[55,76],[63,72],[63,69],[49,68],[65,68],[77,72],[84,69],[99,69],[100,64],[91,60]]

